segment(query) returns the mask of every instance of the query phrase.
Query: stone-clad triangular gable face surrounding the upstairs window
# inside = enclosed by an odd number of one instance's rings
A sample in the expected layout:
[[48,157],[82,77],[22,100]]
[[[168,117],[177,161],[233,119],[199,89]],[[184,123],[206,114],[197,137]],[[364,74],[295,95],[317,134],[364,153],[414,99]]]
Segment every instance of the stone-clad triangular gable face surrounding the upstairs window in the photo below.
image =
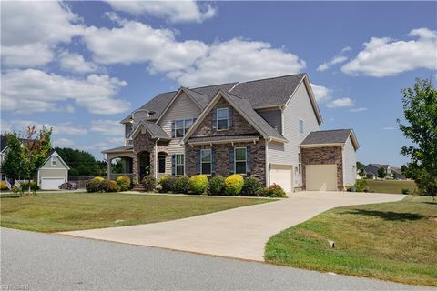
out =
[[233,126],[232,128],[229,128],[228,130],[212,130],[211,124],[212,124],[212,114],[211,112],[213,110],[217,110],[219,108],[231,108],[232,106],[229,105],[229,103],[223,99],[220,98],[218,103],[214,105],[214,107],[211,109],[211,111],[208,113],[208,115],[205,117],[205,119],[202,121],[200,125],[198,125],[198,128],[194,131],[194,133],[191,135],[191,137],[196,136],[217,136],[217,135],[259,135],[258,131],[252,127],[252,125],[249,124],[249,122],[241,116],[237,110],[232,110],[232,119],[233,119]]

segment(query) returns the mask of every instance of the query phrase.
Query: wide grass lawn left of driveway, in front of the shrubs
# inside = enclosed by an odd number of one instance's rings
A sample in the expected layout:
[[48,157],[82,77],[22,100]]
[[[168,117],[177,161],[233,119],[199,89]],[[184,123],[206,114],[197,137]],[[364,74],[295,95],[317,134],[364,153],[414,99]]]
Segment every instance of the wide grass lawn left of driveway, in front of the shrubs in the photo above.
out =
[[[272,199],[131,194],[0,196],[1,226],[58,232],[129,226],[198,216]],[[116,220],[123,220],[116,224]]]

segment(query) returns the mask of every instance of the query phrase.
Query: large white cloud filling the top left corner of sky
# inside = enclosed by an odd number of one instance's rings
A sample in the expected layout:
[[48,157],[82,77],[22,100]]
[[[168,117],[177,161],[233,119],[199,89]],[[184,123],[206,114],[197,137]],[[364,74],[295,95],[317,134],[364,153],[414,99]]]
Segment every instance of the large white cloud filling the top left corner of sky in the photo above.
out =
[[80,35],[80,18],[65,3],[54,1],[2,1],[2,61],[7,66],[46,65],[52,49]]

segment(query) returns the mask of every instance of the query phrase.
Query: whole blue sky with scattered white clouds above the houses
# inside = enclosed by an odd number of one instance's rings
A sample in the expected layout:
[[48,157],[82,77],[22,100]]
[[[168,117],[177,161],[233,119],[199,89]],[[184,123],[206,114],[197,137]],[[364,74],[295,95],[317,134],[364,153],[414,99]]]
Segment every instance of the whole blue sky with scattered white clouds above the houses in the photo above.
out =
[[363,163],[406,162],[400,90],[436,81],[436,2],[2,2],[2,132],[123,143],[159,92],[306,72],[322,129],[354,128]]

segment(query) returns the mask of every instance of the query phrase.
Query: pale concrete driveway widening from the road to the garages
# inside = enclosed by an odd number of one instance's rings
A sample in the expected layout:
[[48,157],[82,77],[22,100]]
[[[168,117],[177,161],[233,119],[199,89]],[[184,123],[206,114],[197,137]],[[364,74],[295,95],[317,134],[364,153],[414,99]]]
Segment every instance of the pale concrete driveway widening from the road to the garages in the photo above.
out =
[[281,230],[298,225],[333,207],[399,201],[403,197],[391,194],[298,192],[277,202],[203,216],[61,234],[264,261],[264,246],[269,237]]

